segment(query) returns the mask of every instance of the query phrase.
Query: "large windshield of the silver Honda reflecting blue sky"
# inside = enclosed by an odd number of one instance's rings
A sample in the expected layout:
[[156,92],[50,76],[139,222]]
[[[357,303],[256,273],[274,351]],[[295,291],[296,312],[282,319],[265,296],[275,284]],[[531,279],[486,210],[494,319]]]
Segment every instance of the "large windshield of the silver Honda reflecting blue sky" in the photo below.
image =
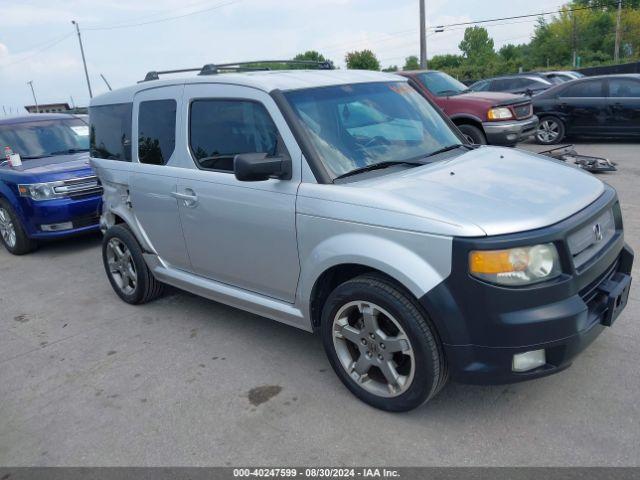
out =
[[312,88],[285,96],[334,178],[378,163],[419,160],[461,144],[405,82]]

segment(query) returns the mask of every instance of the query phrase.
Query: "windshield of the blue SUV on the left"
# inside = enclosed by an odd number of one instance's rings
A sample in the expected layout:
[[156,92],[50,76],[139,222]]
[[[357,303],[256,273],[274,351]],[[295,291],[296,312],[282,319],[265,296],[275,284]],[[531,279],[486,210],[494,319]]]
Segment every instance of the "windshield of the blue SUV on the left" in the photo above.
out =
[[0,125],[0,148],[24,159],[89,150],[89,127],[78,118]]

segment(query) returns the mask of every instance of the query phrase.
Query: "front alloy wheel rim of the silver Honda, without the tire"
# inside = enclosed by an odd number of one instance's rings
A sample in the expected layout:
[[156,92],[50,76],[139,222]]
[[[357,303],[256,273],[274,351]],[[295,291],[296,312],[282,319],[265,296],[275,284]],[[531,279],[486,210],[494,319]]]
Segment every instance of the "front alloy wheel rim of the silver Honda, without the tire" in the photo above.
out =
[[332,336],[342,368],[367,392],[397,397],[411,386],[415,374],[411,342],[383,308],[366,301],[345,304],[334,317]]

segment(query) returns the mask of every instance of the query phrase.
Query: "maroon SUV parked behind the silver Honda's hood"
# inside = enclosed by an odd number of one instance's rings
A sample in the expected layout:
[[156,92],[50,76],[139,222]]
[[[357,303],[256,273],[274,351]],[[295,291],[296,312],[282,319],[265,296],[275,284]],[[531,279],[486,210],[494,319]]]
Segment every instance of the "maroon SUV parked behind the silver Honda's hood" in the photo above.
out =
[[438,105],[471,143],[512,146],[536,132],[538,118],[527,97],[469,92],[466,85],[437,70],[399,73]]

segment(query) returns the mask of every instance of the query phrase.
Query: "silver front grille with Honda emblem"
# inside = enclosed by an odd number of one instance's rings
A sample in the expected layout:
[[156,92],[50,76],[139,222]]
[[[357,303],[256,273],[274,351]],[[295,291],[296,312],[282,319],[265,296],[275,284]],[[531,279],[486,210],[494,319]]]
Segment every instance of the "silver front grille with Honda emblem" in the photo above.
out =
[[580,269],[589,262],[607,246],[615,233],[613,211],[608,209],[569,235],[567,243],[575,268]]

